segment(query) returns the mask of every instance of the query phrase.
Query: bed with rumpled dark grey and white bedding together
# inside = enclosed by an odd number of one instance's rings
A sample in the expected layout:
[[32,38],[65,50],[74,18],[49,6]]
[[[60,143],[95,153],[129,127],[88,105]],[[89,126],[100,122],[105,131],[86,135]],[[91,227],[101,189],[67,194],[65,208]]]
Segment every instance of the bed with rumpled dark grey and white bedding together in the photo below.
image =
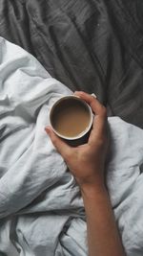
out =
[[142,2],[0,4],[0,256],[87,256],[79,189],[44,133],[74,90],[108,108],[112,208],[127,255],[142,256]]

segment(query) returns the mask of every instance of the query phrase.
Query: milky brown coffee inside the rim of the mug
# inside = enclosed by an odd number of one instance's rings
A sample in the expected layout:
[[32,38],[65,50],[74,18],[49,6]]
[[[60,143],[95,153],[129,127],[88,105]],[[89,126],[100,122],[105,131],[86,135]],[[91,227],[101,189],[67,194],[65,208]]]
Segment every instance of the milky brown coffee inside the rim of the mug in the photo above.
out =
[[61,135],[74,137],[89,127],[90,111],[83,103],[68,99],[56,105],[51,114],[51,125]]

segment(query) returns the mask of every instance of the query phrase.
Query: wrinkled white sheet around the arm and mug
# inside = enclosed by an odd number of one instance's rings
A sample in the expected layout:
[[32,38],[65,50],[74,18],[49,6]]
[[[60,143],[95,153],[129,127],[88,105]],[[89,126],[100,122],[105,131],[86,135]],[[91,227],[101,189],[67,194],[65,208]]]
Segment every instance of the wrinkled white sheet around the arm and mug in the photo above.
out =
[[[0,37],[0,256],[87,256],[78,186],[44,128],[72,92]],[[109,119],[107,184],[127,255],[143,255],[143,130]],[[84,171],[84,170],[83,170]]]

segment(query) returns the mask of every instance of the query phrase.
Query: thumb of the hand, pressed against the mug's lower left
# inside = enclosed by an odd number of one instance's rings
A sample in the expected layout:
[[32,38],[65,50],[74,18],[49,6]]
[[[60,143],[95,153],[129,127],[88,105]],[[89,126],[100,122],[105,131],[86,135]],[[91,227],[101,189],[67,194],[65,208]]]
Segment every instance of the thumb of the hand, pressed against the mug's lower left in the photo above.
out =
[[51,129],[51,127],[45,128],[46,132],[51,138],[51,142],[56,150],[63,156],[66,160],[67,156],[71,153],[72,148],[67,145],[62,139],[60,139]]

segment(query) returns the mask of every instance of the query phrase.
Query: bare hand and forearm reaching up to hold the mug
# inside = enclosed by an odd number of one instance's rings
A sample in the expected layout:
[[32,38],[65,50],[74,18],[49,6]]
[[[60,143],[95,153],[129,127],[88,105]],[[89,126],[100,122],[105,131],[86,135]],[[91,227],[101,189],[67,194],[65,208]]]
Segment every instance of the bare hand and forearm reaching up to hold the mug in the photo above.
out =
[[81,189],[87,216],[89,256],[125,256],[104,182],[108,151],[106,108],[85,92],[75,92],[75,95],[91,105],[95,114],[88,143],[72,148],[50,127],[46,131]]

